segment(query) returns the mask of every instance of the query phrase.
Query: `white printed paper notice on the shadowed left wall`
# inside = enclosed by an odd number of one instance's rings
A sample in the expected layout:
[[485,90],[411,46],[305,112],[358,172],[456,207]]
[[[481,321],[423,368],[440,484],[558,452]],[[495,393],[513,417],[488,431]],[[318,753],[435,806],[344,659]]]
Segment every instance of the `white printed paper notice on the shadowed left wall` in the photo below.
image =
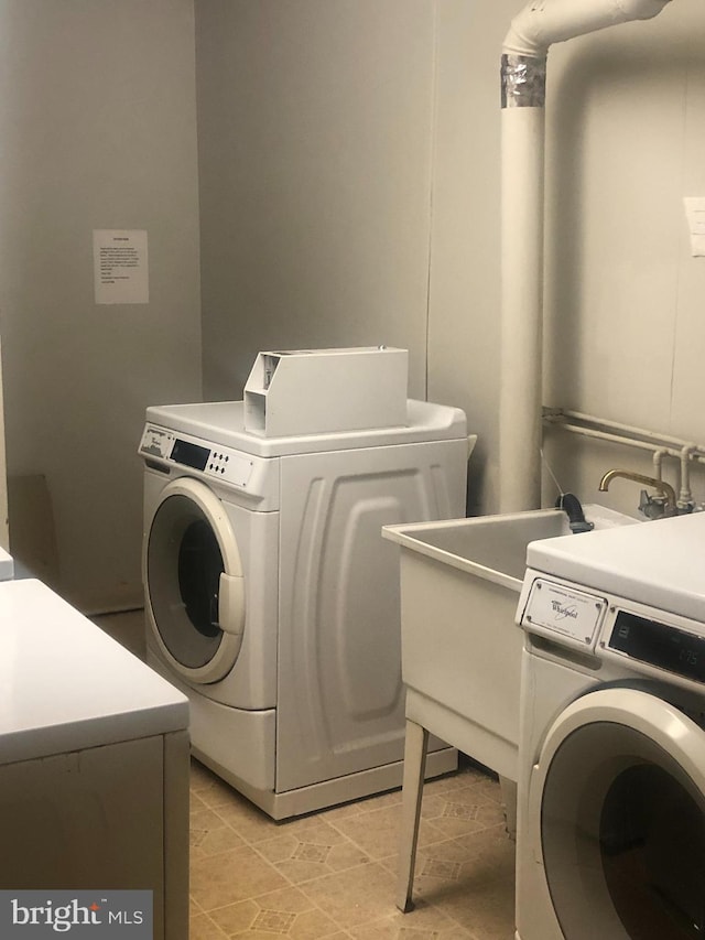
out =
[[99,228],[93,233],[96,303],[149,303],[147,231]]

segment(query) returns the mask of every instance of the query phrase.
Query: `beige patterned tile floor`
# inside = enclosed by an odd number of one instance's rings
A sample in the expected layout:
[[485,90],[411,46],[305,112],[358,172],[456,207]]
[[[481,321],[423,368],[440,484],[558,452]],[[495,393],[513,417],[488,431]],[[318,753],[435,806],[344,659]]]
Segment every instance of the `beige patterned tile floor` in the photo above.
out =
[[[143,657],[142,613],[94,618]],[[469,761],[424,787],[415,909],[394,907],[401,792],[275,823],[197,761],[191,940],[512,940],[514,846]]]

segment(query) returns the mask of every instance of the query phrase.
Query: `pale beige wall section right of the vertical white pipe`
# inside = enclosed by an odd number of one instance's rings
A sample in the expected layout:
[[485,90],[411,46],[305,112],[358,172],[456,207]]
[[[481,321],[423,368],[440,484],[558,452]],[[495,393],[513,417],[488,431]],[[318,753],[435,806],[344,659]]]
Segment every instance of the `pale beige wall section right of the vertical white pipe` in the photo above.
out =
[[[705,195],[704,40],[703,3],[674,0],[556,46],[547,114],[544,401],[698,443],[705,258],[691,256],[683,197]],[[631,449],[551,434],[547,450],[586,499],[610,466],[652,472]],[[618,480],[600,498],[633,510],[639,487]]]

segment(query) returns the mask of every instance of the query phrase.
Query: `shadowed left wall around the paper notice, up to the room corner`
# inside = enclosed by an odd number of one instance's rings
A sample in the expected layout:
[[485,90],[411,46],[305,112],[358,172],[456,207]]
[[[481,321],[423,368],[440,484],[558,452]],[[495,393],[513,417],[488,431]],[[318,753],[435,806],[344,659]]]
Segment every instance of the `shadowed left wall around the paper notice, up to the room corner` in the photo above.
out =
[[[139,604],[144,408],[200,397],[192,0],[0,0],[0,88],[8,472],[46,479],[62,593]],[[96,306],[96,228],[148,230],[149,304]]]

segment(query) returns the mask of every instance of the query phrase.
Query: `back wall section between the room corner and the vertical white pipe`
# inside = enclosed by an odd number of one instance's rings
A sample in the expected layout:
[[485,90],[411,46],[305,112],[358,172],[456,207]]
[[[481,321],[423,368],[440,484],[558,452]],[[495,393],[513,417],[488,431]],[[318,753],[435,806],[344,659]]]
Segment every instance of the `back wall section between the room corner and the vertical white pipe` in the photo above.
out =
[[196,0],[204,390],[265,348],[411,352],[497,434],[499,48],[514,0]]

